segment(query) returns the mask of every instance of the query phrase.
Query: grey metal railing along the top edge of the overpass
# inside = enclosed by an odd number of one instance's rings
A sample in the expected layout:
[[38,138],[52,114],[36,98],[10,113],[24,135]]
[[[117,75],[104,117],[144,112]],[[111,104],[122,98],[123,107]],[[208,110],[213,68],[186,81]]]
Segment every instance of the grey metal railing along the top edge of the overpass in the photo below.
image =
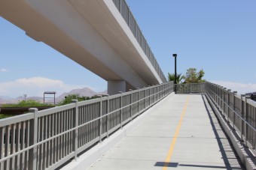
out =
[[163,75],[162,70],[157,63],[156,58],[154,57],[153,52],[151,51],[150,47],[148,46],[147,40],[145,39],[144,35],[142,34],[139,25],[136,22],[136,19],[133,16],[129,6],[126,4],[125,0],[113,0],[115,6],[119,10],[120,14],[123,16],[123,19],[126,21],[126,24],[129,26],[130,30],[133,32],[134,37],[138,41],[139,45],[142,47],[142,50],[145,52],[145,55],[148,57],[148,60],[151,61],[154,69],[157,71],[157,74],[160,76],[160,79],[163,82],[166,81],[166,77]]

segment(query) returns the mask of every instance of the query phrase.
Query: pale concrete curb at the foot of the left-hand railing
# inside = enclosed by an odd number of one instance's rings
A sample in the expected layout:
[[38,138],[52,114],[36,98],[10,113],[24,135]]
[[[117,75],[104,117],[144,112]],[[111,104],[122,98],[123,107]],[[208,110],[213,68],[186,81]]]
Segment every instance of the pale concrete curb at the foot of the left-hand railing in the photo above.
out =
[[[168,97],[172,97],[174,93],[172,92],[163,100],[160,100],[154,106],[160,105],[163,101],[167,100]],[[93,148],[91,148],[86,153],[82,154],[78,157],[77,160],[73,160],[68,165],[64,166],[61,170],[80,170],[80,169],[88,169],[93,165],[100,157],[102,157],[109,149],[113,148],[114,145],[117,145],[121,139],[123,139],[128,133],[130,133],[135,127],[137,127],[145,118],[150,115],[150,112],[153,108],[149,108],[147,111],[143,112],[142,115],[139,115],[130,123],[126,124],[122,129],[117,130],[117,132],[113,133],[109,136],[108,139],[105,139],[102,143],[97,144]]]

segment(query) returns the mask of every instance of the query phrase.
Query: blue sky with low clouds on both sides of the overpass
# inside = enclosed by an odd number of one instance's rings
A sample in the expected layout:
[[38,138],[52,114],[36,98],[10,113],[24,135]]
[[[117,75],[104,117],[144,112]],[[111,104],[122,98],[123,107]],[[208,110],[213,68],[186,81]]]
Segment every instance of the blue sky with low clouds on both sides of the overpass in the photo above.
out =
[[[163,73],[196,67],[240,93],[256,91],[256,1],[126,0]],[[105,80],[0,17],[0,96],[107,88]]]

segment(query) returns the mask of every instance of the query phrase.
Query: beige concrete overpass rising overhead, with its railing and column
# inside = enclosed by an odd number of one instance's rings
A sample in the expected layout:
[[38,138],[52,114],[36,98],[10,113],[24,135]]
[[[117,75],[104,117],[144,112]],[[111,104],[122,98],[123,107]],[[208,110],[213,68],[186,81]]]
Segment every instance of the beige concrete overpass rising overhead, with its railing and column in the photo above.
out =
[[108,81],[108,94],[166,82],[123,0],[0,0],[0,4],[0,16],[29,37]]

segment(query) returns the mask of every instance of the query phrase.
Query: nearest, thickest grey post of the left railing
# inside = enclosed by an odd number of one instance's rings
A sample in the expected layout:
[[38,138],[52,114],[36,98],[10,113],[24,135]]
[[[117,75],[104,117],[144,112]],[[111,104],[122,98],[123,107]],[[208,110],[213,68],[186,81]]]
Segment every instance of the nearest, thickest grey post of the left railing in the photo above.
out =
[[[29,109],[30,113],[34,113],[34,119],[30,122],[30,138],[29,138],[29,145],[35,145],[38,142],[38,109],[31,108]],[[29,169],[36,170],[37,167],[37,158],[38,156],[38,147],[29,150]]]

